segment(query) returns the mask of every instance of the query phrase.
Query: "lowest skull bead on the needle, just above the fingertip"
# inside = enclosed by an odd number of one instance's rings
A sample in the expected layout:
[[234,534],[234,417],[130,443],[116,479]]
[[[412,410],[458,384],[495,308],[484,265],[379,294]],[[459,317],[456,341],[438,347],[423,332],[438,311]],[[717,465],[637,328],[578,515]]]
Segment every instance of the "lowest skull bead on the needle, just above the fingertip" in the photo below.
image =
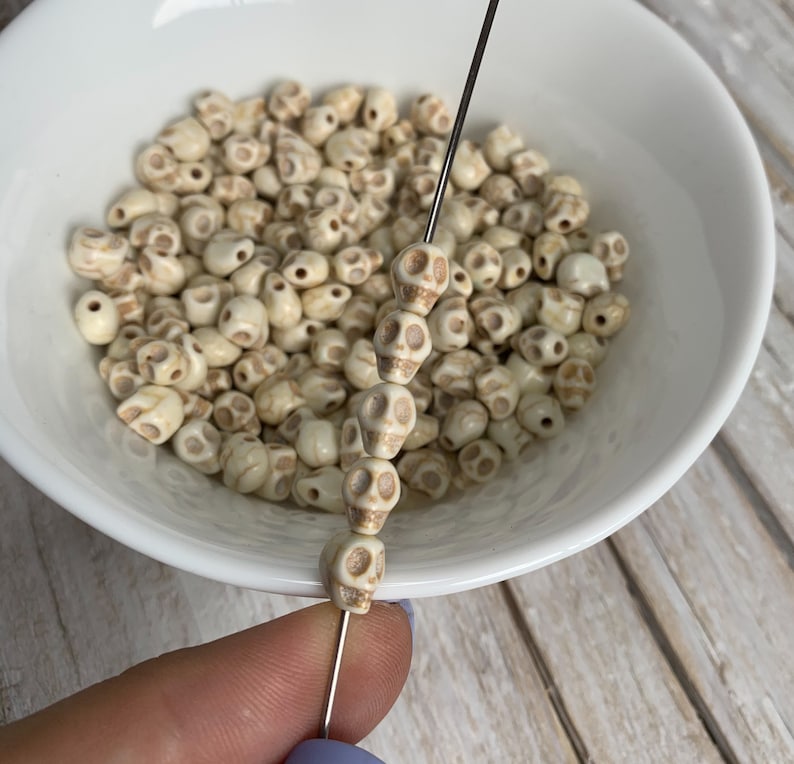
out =
[[320,577],[331,601],[357,615],[369,612],[385,570],[386,550],[377,536],[341,531],[320,555]]

